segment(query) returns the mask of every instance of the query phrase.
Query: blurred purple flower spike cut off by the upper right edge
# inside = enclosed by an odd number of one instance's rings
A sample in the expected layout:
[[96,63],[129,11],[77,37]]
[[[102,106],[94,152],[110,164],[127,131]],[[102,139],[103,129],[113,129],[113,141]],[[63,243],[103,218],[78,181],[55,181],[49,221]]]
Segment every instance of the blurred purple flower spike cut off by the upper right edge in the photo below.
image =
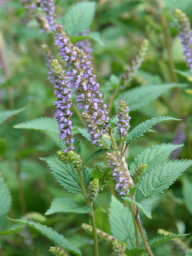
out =
[[179,23],[179,37],[186,55],[188,66],[192,72],[192,30],[190,28],[189,18],[179,9],[175,10],[175,14]]

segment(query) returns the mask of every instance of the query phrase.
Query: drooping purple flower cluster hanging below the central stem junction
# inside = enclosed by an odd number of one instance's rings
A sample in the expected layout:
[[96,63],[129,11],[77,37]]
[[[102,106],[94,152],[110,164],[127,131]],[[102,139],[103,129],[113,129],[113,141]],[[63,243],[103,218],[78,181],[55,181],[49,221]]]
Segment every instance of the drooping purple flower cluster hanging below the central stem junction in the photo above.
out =
[[113,171],[113,178],[116,181],[116,189],[120,191],[119,194],[122,196],[129,195],[129,178],[116,153],[107,153],[107,158]]

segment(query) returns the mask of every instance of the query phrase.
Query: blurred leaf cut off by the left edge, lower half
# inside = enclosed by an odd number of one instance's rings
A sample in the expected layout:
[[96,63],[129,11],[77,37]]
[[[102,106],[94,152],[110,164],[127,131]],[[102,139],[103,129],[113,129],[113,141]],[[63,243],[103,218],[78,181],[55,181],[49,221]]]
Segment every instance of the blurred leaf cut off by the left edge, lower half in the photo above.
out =
[[6,215],[11,207],[11,194],[4,180],[0,177],[0,216]]

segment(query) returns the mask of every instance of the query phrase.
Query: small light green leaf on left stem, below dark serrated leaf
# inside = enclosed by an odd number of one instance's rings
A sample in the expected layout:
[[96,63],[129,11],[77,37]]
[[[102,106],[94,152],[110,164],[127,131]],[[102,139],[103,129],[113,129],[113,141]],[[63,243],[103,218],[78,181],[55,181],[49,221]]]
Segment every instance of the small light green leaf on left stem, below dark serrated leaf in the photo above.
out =
[[45,215],[57,212],[89,213],[92,210],[93,208],[89,205],[80,206],[71,198],[59,197],[53,199],[50,209],[45,212]]

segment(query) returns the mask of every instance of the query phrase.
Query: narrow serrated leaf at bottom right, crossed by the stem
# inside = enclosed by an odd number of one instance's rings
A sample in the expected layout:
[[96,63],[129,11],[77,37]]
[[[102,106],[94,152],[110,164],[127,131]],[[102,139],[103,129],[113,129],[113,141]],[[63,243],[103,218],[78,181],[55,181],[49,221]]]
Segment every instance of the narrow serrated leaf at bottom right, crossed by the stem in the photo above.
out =
[[[174,238],[177,238],[177,237],[184,237],[184,236],[188,236],[189,234],[179,234],[179,235],[167,235],[167,236],[157,236],[157,237],[154,237],[153,239],[150,239],[148,241],[150,247],[155,247],[159,244],[162,244],[164,242],[167,242],[167,241],[170,241]],[[146,251],[146,248],[144,246],[139,246],[137,248],[134,248],[134,249],[131,249],[131,250],[126,250],[126,253],[127,255],[129,256],[137,256],[137,255],[140,255],[140,253],[142,252],[145,252]]]

